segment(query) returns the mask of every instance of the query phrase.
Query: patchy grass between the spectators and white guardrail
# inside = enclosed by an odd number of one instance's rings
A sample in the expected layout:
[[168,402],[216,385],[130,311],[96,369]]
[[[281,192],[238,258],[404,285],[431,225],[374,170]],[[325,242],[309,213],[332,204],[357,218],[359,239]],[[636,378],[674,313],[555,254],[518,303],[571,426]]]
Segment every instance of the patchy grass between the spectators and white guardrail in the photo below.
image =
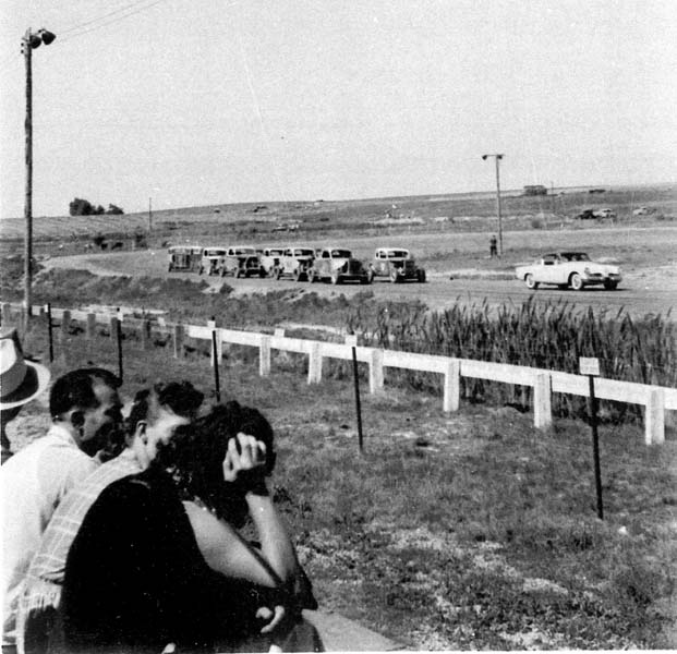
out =
[[[46,353],[44,326],[26,350]],[[57,344],[55,374],[117,368],[112,341]],[[124,342],[128,393],[189,378],[211,395],[207,356]],[[595,517],[589,429],[535,432],[509,407],[387,387],[363,396],[365,449],[352,380],[339,368],[310,387],[293,356],[257,376],[255,354],[228,350],[222,397],[261,408],[277,433],[275,497],[324,609],[408,649],[677,646],[677,441],[645,447],[639,427],[602,427],[605,520]],[[33,405],[11,425],[17,446],[47,423]]]

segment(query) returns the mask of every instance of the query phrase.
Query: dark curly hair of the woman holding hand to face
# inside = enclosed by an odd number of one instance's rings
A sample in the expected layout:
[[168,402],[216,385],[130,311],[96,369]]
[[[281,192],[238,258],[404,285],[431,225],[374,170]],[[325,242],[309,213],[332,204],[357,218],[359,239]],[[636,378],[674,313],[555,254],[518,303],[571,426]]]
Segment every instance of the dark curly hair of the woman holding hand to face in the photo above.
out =
[[219,518],[241,526],[247,514],[244,488],[223,481],[228,443],[239,432],[266,446],[265,474],[275,467],[274,434],[265,416],[231,401],[217,404],[190,425],[180,425],[166,444],[158,445],[154,465],[167,470],[184,499],[200,498]]

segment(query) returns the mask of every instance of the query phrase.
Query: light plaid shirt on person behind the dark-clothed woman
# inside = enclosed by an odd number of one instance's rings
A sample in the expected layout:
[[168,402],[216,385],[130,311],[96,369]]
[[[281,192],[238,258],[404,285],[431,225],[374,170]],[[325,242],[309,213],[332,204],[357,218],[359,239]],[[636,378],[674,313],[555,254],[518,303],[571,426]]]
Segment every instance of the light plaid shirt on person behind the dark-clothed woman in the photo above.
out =
[[87,511],[108,485],[137,472],[141,472],[141,465],[132,450],[126,449],[112,461],[99,465],[63,498],[28,568],[20,614],[44,606],[59,606],[65,559]]

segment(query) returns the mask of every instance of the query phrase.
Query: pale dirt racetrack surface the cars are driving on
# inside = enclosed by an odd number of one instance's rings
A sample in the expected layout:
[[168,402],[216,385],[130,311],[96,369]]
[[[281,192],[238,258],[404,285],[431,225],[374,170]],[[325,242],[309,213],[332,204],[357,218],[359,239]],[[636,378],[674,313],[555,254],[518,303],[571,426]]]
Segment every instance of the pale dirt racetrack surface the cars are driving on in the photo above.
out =
[[[60,268],[86,268],[99,275],[133,275],[154,277],[176,277],[189,279],[204,279],[210,286],[217,287],[226,281],[238,293],[265,292],[273,289],[294,289],[315,291],[323,294],[344,293],[351,295],[359,292],[372,291],[378,298],[418,299],[435,308],[448,307],[457,302],[464,305],[480,305],[485,300],[489,306],[499,306],[505,303],[520,305],[530,296],[537,302],[566,301],[572,306],[587,310],[592,306],[595,311],[607,310],[615,315],[625,307],[632,316],[643,316],[648,313],[663,315],[677,303],[677,288],[674,279],[664,277],[629,276],[615,291],[602,288],[591,288],[584,291],[560,291],[556,288],[541,287],[537,291],[530,291],[517,279],[449,279],[446,274],[430,275],[424,284],[415,282],[394,284],[387,281],[375,281],[372,286],[344,283],[338,287],[325,283],[294,282],[291,280],[274,279],[233,279],[232,277],[197,277],[195,274],[172,272],[166,269],[164,253],[125,252],[108,255],[77,255],[56,257],[47,262],[49,266]],[[667,283],[669,281],[669,283]]]

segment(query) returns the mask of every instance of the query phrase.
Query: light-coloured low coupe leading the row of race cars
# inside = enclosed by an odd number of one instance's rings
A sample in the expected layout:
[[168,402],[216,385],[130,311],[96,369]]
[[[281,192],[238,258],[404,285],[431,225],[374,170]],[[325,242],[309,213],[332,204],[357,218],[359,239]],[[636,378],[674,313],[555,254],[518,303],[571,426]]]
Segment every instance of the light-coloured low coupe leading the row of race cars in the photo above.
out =
[[541,283],[551,283],[560,289],[571,287],[576,291],[595,284],[613,290],[621,280],[618,266],[597,264],[584,252],[544,254],[529,266],[517,266],[515,274],[530,289],[537,289]]

